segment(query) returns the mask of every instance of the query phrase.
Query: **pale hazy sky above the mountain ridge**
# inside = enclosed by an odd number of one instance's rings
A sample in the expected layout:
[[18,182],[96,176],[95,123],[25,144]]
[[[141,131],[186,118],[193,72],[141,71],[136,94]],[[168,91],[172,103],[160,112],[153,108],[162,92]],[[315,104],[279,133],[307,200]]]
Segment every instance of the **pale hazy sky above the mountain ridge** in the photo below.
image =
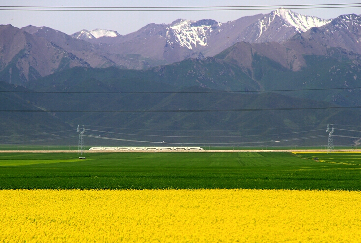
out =
[[[285,5],[296,4],[337,4],[354,3],[355,0],[1,0],[0,24],[12,24],[15,27],[27,25],[47,26],[67,34],[73,34],[82,29],[96,28],[116,30],[120,34],[134,32],[149,23],[168,24],[176,19],[214,19],[218,22],[236,20],[242,16],[269,13],[271,9],[237,10],[237,11],[21,11],[4,10],[5,6],[78,6],[78,7],[170,7],[170,6],[252,6],[276,5],[274,9]],[[361,6],[361,4],[359,4]],[[317,16],[320,18],[335,18],[341,14],[361,13],[360,8],[332,9],[292,9],[294,12]]]

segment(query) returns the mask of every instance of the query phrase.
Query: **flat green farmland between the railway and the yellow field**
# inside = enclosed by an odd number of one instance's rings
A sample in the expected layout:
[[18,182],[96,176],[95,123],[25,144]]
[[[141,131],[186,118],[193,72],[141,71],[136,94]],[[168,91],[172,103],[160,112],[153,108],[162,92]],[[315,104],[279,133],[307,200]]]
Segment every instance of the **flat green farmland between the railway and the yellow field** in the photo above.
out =
[[361,153],[87,153],[86,158],[0,153],[0,189],[361,190]]

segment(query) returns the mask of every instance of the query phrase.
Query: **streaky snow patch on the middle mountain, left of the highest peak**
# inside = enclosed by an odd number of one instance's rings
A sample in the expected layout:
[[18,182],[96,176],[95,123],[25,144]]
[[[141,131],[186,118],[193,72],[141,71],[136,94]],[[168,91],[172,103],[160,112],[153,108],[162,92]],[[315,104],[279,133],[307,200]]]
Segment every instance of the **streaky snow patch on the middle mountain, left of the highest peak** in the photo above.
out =
[[[206,46],[207,36],[213,31],[214,27],[220,27],[215,20],[178,20],[167,28],[167,39],[175,38],[175,41],[182,47],[193,49],[197,45]],[[172,41],[169,41],[172,43]]]

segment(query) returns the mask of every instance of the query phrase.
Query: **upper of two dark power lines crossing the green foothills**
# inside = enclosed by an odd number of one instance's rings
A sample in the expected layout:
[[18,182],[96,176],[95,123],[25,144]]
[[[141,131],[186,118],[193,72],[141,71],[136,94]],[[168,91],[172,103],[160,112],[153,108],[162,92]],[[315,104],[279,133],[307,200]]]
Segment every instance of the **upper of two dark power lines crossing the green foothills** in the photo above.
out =
[[84,91],[10,91],[0,90],[0,93],[34,93],[34,94],[208,94],[208,93],[265,93],[265,92],[291,92],[291,91],[321,91],[321,90],[350,90],[361,89],[361,87],[351,88],[312,88],[312,89],[275,89],[275,90],[250,90],[250,91],[225,91],[225,90],[210,90],[210,91],[156,91],[156,92],[84,92]]

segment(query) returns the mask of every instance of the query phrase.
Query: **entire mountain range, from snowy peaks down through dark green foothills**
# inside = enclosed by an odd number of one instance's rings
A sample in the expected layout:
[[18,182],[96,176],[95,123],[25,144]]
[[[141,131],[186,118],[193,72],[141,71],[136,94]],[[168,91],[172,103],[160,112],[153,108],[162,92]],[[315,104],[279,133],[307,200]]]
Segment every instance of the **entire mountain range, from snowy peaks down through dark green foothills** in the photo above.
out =
[[[360,28],[355,14],[326,20],[286,9],[227,23],[148,24],[127,35],[102,29],[67,35],[48,27],[1,25],[0,100],[8,110],[41,114],[1,112],[6,127],[1,135],[16,142],[17,131],[28,128],[26,134],[45,133],[38,140],[53,139],[52,127],[67,131],[86,123],[114,134],[122,127],[148,138],[169,135],[180,143],[199,142],[189,138],[188,131],[197,131],[202,141],[226,144],[234,133],[242,141],[259,142],[265,136],[273,141],[312,137],[313,132],[299,134],[299,128],[321,131],[326,123],[360,126],[357,109],[187,113],[361,106]],[[75,112],[82,110],[94,113]],[[107,113],[112,110],[128,113]],[[135,110],[187,112],[130,112]],[[139,138],[131,134],[121,137]],[[237,139],[229,141],[241,144]]]

